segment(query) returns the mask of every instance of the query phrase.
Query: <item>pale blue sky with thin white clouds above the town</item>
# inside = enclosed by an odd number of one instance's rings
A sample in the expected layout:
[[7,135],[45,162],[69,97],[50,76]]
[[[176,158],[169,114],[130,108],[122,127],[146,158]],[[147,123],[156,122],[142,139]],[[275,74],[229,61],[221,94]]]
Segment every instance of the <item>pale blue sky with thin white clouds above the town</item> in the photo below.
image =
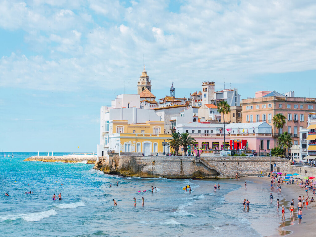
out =
[[143,64],[158,99],[204,81],[316,97],[314,0],[2,0],[0,16],[3,152],[95,152],[100,107],[137,93]]

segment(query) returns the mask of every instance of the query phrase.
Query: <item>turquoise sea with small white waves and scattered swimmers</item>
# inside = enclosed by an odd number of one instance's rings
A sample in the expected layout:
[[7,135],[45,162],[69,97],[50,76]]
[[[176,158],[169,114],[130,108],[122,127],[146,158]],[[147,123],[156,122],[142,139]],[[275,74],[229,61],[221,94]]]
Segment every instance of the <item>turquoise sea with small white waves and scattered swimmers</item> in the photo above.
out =
[[[23,161],[37,152],[3,155],[1,237],[255,237],[270,236],[280,225],[276,219],[281,214],[276,213],[276,201],[270,204],[269,187],[247,180],[246,190],[245,180],[126,178],[104,174],[85,162]],[[215,183],[220,184],[216,192]],[[185,185],[191,186],[191,193],[183,190]],[[152,193],[151,186],[157,192]],[[62,200],[52,200],[59,193]],[[244,198],[250,201],[249,211],[243,210]]]

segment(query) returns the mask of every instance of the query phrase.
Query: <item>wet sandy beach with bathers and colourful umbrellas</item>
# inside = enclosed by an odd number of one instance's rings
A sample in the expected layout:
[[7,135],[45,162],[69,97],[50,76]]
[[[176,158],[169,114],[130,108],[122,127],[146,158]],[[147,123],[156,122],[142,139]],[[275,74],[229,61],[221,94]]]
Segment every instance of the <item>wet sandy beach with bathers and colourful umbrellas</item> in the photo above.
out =
[[[270,181],[271,181],[270,178],[251,176],[251,177],[244,177],[240,180],[242,180],[242,181],[248,180],[248,181],[254,182],[257,185],[266,185],[266,187],[267,187],[267,194],[266,195],[269,196],[270,192],[272,192],[273,197],[274,197],[273,202],[276,205],[276,198],[279,198],[279,197],[277,196],[275,187],[273,188],[272,191],[270,191]],[[270,234],[269,229],[273,228],[273,226],[271,226],[271,225],[269,225],[269,226],[263,225],[263,227],[266,230],[262,230],[262,226],[258,227],[258,226],[254,226],[254,224],[252,224],[252,227],[255,228],[263,236],[271,236],[271,237],[285,236],[285,235],[290,236],[290,237],[315,236],[314,231],[316,230],[316,226],[314,226],[313,222],[314,222],[315,217],[316,217],[316,214],[315,214],[315,205],[316,204],[314,202],[312,202],[312,203],[309,202],[307,210],[306,210],[306,206],[305,206],[305,209],[303,210],[302,223],[298,224],[297,198],[300,195],[301,195],[301,197],[303,197],[303,195],[306,195],[306,194],[305,194],[304,189],[302,189],[300,186],[296,185],[296,182],[292,185],[282,185],[282,193],[280,195],[280,197],[282,197],[282,198],[280,198],[280,200],[279,200],[280,208],[279,208],[279,212],[277,215],[277,217],[280,217],[280,218],[275,217],[275,213],[271,213],[271,218],[275,218],[275,223],[278,225],[276,228],[276,232],[274,234]],[[311,197],[314,197],[313,192],[310,192],[310,190],[309,190],[308,196],[309,196],[309,199]],[[294,218],[289,217],[290,216],[289,206],[290,206],[290,203],[292,201],[292,198],[294,199],[294,207],[295,207]],[[285,208],[285,221],[281,221],[282,205],[284,205],[284,208]],[[256,222],[252,222],[252,223],[255,223],[255,225],[258,225],[258,223],[256,223]],[[265,233],[267,233],[267,235]]]

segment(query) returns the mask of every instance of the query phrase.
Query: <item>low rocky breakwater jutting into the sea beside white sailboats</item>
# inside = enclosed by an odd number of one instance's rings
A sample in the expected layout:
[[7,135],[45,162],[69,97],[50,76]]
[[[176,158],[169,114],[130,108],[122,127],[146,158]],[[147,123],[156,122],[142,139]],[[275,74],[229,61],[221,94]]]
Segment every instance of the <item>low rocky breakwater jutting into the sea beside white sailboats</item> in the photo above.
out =
[[85,163],[94,164],[96,157],[85,156],[31,156],[24,161],[43,161],[43,162],[64,162],[64,163]]

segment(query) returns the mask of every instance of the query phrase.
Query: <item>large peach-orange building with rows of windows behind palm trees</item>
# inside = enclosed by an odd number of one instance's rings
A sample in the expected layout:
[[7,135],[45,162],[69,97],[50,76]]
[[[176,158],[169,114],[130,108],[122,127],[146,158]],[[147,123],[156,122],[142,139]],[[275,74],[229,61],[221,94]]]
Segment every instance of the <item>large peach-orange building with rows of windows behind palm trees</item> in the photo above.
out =
[[242,123],[267,122],[272,126],[274,138],[278,137],[278,129],[273,125],[272,118],[282,113],[286,123],[280,133],[289,132],[293,145],[299,144],[299,131],[307,127],[308,114],[316,111],[315,98],[294,97],[294,92],[284,95],[276,91],[259,91],[255,98],[241,100],[240,104]]

